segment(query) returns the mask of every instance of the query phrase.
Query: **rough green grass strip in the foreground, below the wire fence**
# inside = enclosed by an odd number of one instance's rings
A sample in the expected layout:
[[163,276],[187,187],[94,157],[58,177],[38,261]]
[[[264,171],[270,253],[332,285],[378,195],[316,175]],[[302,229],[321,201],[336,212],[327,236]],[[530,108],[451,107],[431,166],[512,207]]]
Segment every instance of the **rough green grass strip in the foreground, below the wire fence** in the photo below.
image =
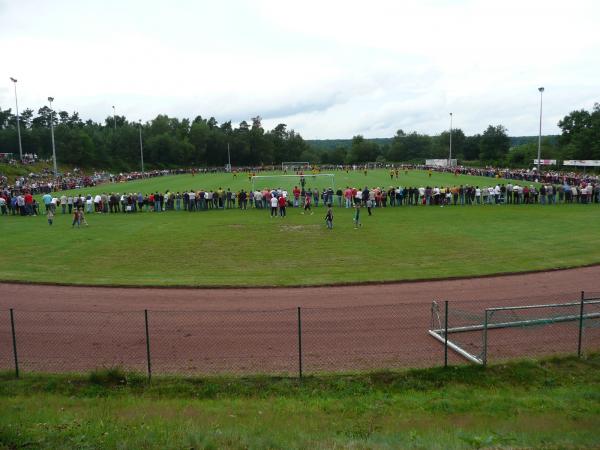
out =
[[600,356],[278,378],[0,377],[0,448],[597,448]]

